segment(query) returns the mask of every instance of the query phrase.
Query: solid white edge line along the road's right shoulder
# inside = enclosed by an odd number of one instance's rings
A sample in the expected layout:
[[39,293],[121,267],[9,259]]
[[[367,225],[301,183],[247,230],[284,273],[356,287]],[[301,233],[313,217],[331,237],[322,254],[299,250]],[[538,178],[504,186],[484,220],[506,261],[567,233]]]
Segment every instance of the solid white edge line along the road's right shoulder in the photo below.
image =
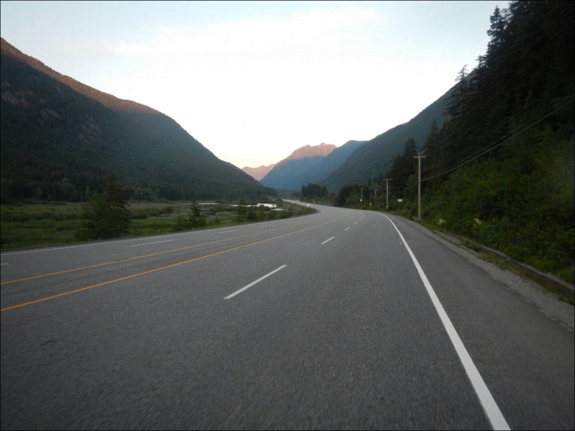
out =
[[415,255],[411,251],[411,248],[409,248],[407,241],[405,241],[405,238],[403,237],[399,229],[397,229],[397,226],[394,224],[392,219],[390,219],[385,214],[382,214],[382,216],[384,216],[391,222],[391,224],[399,234],[401,241],[403,241],[403,245],[407,249],[409,256],[411,256],[411,260],[413,261],[413,264],[417,268],[417,272],[419,272],[421,281],[423,282],[425,289],[427,290],[427,293],[430,295],[431,302],[433,303],[433,305],[435,306],[435,310],[439,314],[439,318],[443,323],[443,327],[447,331],[447,335],[449,336],[451,343],[453,344],[453,347],[455,348],[455,351],[459,356],[459,360],[461,360],[461,363],[463,364],[463,368],[465,368],[465,372],[467,373],[467,377],[469,377],[471,386],[473,386],[473,389],[475,390],[477,397],[479,398],[481,406],[483,407],[483,410],[485,411],[485,414],[487,415],[487,418],[489,419],[492,428],[494,430],[509,430],[510,429],[509,425],[507,424],[507,421],[505,421],[503,413],[501,413],[501,410],[499,410],[497,403],[493,399],[493,395],[491,395],[491,392],[489,391],[489,388],[487,387],[483,378],[481,377],[479,370],[477,370],[477,367],[473,363],[471,356],[469,356],[469,353],[467,352],[465,345],[463,345],[463,341],[461,341],[461,338],[459,338],[459,335],[455,330],[455,327],[451,323],[451,320],[448,317],[446,311],[443,309],[441,302],[439,302],[439,298],[435,294],[433,287],[431,287],[431,283],[427,279],[427,276],[423,272],[423,269],[421,269],[421,266],[417,261]]

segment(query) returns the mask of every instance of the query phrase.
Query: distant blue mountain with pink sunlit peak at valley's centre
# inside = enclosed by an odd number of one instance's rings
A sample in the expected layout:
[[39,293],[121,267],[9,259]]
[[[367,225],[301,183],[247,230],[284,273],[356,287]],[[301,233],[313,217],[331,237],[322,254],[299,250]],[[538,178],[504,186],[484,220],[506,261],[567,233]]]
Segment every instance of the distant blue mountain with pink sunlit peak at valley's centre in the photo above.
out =
[[289,157],[279,161],[260,183],[278,190],[300,190],[302,184],[306,183],[308,172],[335,149],[335,145],[331,144],[298,148]]

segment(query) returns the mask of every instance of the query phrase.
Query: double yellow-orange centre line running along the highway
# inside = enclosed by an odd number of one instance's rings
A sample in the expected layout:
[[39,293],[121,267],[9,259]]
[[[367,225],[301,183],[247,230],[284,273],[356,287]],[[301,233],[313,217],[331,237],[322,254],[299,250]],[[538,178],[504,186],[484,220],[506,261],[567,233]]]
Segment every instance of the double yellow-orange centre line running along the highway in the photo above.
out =
[[[337,219],[335,219],[337,220]],[[121,282],[123,280],[129,280],[131,278],[136,278],[142,275],[147,275],[147,274],[152,274],[152,272],[158,272],[158,271],[163,271],[163,270],[167,270],[168,268],[174,268],[177,267],[179,265],[185,265],[187,263],[192,263],[198,260],[202,260],[202,259],[208,259],[208,257],[214,257],[214,256],[218,256],[218,255],[222,255],[224,253],[229,253],[235,250],[238,250],[240,248],[245,248],[245,247],[251,247],[252,245],[257,245],[257,244],[262,244],[265,243],[266,241],[271,241],[271,240],[275,240],[277,238],[281,238],[287,235],[291,235],[293,233],[297,233],[297,232],[301,232],[302,230],[306,230],[309,228],[313,228],[313,227],[317,227],[320,225],[324,225],[326,223],[331,223],[335,220],[331,220],[331,221],[325,221],[319,224],[315,224],[315,225],[308,225],[305,226],[304,228],[301,229],[296,229],[293,230],[292,232],[287,232],[287,233],[282,233],[280,235],[277,236],[273,236],[273,237],[269,237],[269,238],[265,238],[263,240],[259,240],[259,241],[255,241],[254,243],[248,243],[248,244],[242,244],[242,245],[238,245],[237,247],[232,247],[232,248],[228,248],[222,251],[218,251],[218,252],[214,252],[214,253],[210,253],[209,255],[205,255],[205,256],[200,256],[200,257],[194,257],[193,259],[188,259],[188,260],[184,260],[181,262],[177,262],[177,263],[173,263],[170,265],[165,265],[163,267],[159,267],[159,268],[155,268],[153,270],[148,270],[148,271],[143,271],[143,272],[138,272],[136,274],[132,274],[132,275],[127,275],[125,277],[121,277],[121,278],[117,278],[117,279],[113,279],[113,280],[109,280],[107,282],[102,282],[102,283],[97,283],[97,284],[91,284],[90,286],[85,286],[85,287],[80,287],[74,290],[68,290],[66,292],[63,293],[59,293],[56,295],[50,295],[48,297],[44,297],[44,298],[40,298],[40,299],[34,299],[34,301],[28,301],[28,302],[22,302],[16,305],[11,305],[9,307],[4,307],[2,309],[0,309],[0,312],[4,312],[4,311],[9,311],[9,310],[14,310],[14,309],[18,309],[21,307],[25,307],[28,305],[32,305],[35,303],[39,303],[39,302],[44,302],[44,301],[49,301],[51,299],[55,299],[55,298],[60,298],[60,297],[65,297],[67,295],[72,295],[75,293],[79,293],[79,292],[83,292],[85,290],[90,290],[96,287],[101,287],[101,286],[106,286],[107,284],[112,284],[112,283],[117,283],[117,282]],[[239,237],[234,237],[234,238],[227,238],[225,240],[219,240],[219,241],[213,241],[212,243],[204,243],[204,244],[197,244],[197,245],[190,245],[189,247],[182,247],[182,248],[178,248],[178,249],[173,249],[173,250],[168,250],[168,251],[163,251],[163,252],[159,252],[159,253],[152,253],[150,255],[144,255],[144,256],[136,256],[136,257],[129,257],[127,259],[121,259],[121,260],[114,260],[114,261],[110,261],[110,262],[105,262],[105,263],[99,263],[99,264],[95,264],[95,265],[89,265],[86,267],[81,267],[81,268],[73,268],[71,270],[64,270],[64,271],[57,271],[57,272],[51,272],[49,274],[42,274],[42,275],[36,275],[36,276],[32,276],[32,277],[28,277],[28,278],[21,278],[21,279],[17,279],[17,280],[10,280],[7,282],[3,282],[1,284],[10,284],[10,283],[17,283],[17,282],[24,282],[27,280],[33,280],[33,279],[39,279],[39,278],[44,278],[44,277],[49,277],[49,276],[53,276],[53,275],[60,275],[60,274],[67,274],[68,272],[74,272],[74,271],[82,271],[82,270],[88,270],[90,268],[97,268],[97,267],[102,267],[105,265],[111,265],[114,263],[122,263],[122,262],[127,262],[130,260],[136,260],[136,259],[144,259],[145,257],[152,257],[152,256],[159,256],[159,255],[164,255],[167,253],[174,253],[174,252],[178,252],[178,251],[183,251],[183,250],[189,250],[192,248],[197,248],[197,247],[203,247],[205,245],[212,245],[212,244],[218,244],[218,243],[224,243],[225,241],[233,241],[233,240],[238,240],[241,238],[247,238],[247,237],[251,237],[251,236],[255,236],[255,235],[260,235],[262,233],[270,233],[270,232],[277,232],[278,230],[284,230],[284,229],[289,229],[289,228],[294,228],[297,226],[301,226],[304,224],[300,224],[300,225],[296,225],[296,226],[286,226],[285,228],[279,228],[279,229],[274,229],[271,231],[267,231],[267,232],[257,232],[257,233],[252,233],[252,234],[248,234],[248,235],[243,235],[243,236],[239,236]]]

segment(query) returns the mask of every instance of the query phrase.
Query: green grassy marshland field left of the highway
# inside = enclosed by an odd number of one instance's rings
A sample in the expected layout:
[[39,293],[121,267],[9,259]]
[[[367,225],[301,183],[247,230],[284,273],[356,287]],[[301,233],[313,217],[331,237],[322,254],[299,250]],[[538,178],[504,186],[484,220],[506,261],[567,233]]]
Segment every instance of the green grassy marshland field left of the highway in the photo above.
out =
[[[84,222],[82,203],[53,202],[0,206],[0,247],[2,250],[38,247],[42,245],[78,242],[78,232]],[[263,207],[254,208],[238,217],[238,207],[228,203],[200,205],[205,216],[204,228],[237,225],[238,219],[250,221],[297,217],[312,213],[307,207],[278,202],[281,211]],[[132,228],[130,236],[190,230],[187,226],[189,202],[130,202]],[[249,219],[249,221],[248,221]]]

